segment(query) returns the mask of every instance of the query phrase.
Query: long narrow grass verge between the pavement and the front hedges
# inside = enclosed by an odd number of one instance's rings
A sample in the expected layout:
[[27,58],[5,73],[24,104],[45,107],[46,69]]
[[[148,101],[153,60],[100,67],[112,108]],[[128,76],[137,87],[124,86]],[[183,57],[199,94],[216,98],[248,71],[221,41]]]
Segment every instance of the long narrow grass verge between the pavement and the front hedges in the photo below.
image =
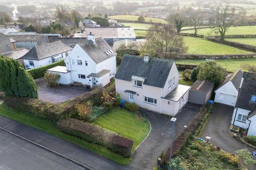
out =
[[131,158],[124,158],[123,156],[114,154],[113,152],[110,152],[108,149],[103,148],[99,145],[95,145],[93,143],[89,143],[76,137],[70,136],[66,133],[63,133],[57,128],[57,125],[55,125],[55,123],[53,122],[49,122],[47,120],[44,120],[43,118],[36,117],[26,112],[18,111],[17,109],[8,108],[5,104],[0,105],[0,115],[10,118],[11,120],[20,122],[22,124],[26,124],[38,130],[47,132],[56,137],[74,143],[75,145],[78,145],[80,147],[89,149],[96,154],[114,160],[119,164],[127,165],[131,161]]

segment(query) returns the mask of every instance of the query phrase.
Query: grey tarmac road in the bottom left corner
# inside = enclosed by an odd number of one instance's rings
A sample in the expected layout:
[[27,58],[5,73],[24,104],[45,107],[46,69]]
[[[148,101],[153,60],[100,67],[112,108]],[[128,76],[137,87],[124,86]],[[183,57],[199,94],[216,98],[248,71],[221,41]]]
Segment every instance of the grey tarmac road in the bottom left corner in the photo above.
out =
[[0,130],[0,169],[84,169],[23,139]]

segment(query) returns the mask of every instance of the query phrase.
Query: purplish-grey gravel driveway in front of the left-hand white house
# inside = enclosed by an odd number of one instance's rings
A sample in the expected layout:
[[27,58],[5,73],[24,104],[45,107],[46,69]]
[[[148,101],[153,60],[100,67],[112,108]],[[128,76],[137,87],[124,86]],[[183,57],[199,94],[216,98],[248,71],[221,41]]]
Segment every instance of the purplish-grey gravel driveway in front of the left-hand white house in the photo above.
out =
[[89,89],[86,88],[68,86],[57,86],[51,88],[43,78],[36,79],[35,82],[38,87],[39,99],[51,103],[61,103],[89,91]]

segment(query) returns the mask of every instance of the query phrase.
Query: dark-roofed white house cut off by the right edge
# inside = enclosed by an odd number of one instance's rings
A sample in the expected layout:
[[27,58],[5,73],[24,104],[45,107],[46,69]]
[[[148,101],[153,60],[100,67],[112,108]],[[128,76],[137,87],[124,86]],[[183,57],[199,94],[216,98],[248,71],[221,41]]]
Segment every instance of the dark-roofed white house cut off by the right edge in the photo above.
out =
[[256,73],[244,72],[231,125],[256,135]]

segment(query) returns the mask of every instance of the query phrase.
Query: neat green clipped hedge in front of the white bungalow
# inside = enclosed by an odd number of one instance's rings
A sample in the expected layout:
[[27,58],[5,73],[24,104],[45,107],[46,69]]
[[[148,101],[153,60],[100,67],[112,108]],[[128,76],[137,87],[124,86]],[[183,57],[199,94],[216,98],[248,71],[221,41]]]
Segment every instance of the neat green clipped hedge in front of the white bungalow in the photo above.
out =
[[55,62],[55,63],[52,63],[52,64],[49,64],[49,65],[45,65],[45,66],[42,66],[42,67],[38,67],[36,69],[30,69],[30,70],[27,70],[34,79],[38,79],[38,78],[42,78],[44,77],[44,72],[48,69],[51,69],[55,66],[65,66],[65,62],[64,60],[60,60],[58,62]]

